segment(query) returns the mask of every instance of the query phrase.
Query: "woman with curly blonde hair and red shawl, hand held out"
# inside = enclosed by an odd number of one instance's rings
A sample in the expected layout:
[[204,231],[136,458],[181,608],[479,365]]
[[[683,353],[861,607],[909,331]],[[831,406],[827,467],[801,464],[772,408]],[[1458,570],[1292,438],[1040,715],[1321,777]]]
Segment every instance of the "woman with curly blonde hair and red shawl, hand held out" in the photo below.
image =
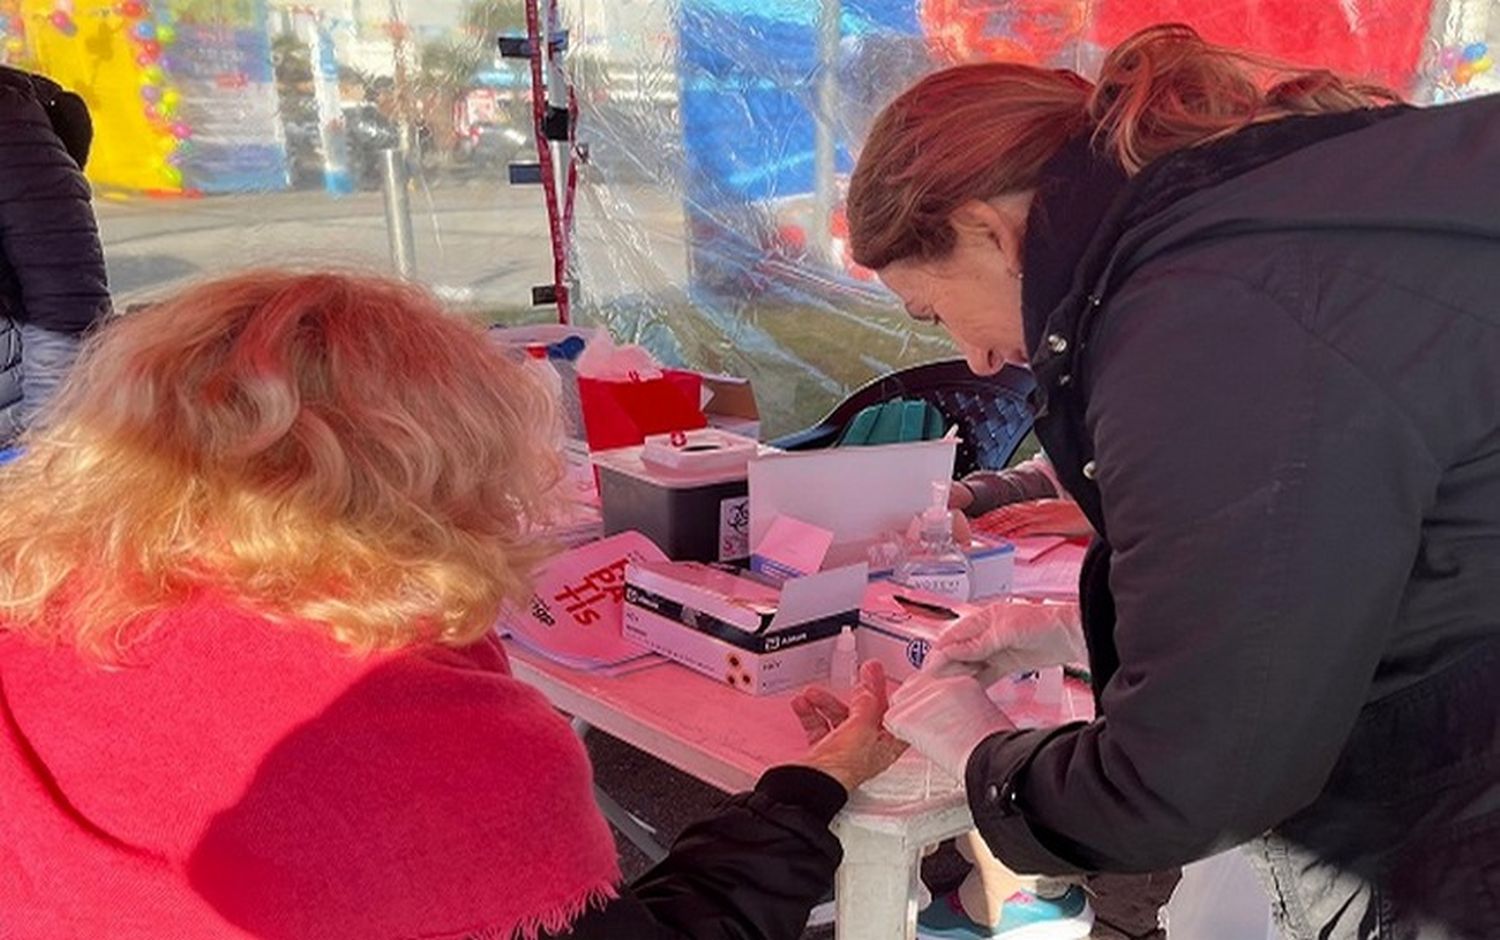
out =
[[0,934],[792,939],[900,747],[806,766],[620,885],[568,726],[490,624],[560,465],[548,391],[422,291],[249,273],[110,324],[0,469]]

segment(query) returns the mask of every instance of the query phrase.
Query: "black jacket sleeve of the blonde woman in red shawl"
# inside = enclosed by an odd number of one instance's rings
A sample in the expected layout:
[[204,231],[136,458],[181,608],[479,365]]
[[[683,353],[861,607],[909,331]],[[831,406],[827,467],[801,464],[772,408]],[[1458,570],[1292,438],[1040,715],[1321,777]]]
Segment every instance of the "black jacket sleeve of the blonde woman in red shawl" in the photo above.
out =
[[828,823],[846,798],[825,774],[774,768],[556,940],[796,940],[832,888],[843,853]]

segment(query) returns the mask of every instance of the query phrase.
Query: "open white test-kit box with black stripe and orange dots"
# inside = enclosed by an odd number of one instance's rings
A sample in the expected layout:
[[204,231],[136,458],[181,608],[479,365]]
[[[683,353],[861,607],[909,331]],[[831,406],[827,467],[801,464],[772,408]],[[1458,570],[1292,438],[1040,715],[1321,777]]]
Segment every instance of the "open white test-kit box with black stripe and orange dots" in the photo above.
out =
[[740,691],[782,693],[828,678],[838,633],[860,625],[866,583],[864,565],[777,586],[694,562],[633,564],[622,630]]

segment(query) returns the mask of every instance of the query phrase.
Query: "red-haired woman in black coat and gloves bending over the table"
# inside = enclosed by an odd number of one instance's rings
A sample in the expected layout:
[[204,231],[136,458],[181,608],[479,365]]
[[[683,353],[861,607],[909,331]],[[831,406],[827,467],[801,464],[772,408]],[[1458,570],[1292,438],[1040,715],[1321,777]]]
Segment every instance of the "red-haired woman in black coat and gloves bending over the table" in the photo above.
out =
[[[855,259],[1028,363],[1098,538],[1098,717],[1016,730],[956,625],[886,726],[1006,865],[1245,846],[1287,937],[1500,937],[1500,102],[1410,108],[1154,27],[1098,82],[975,64],[876,121]],[[1060,627],[1058,627],[1060,628]],[[1023,666],[1024,667],[1024,663]]]

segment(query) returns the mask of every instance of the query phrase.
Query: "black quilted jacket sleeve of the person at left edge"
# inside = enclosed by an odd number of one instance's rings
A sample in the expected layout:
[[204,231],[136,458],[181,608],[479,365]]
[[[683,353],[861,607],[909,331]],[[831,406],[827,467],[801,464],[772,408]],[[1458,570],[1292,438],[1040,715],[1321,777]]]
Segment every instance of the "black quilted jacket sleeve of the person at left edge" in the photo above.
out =
[[88,181],[27,87],[0,84],[0,252],[16,319],[82,333],[110,312]]

